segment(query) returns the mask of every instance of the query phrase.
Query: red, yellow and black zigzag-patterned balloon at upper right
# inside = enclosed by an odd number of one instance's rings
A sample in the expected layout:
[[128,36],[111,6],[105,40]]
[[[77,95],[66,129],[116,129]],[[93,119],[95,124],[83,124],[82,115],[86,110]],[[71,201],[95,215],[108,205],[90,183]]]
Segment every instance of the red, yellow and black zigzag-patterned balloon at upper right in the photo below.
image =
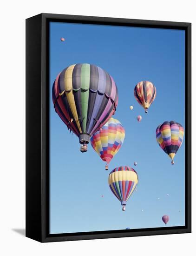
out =
[[141,81],[134,88],[134,96],[137,102],[148,113],[148,108],[156,97],[156,87],[149,81]]

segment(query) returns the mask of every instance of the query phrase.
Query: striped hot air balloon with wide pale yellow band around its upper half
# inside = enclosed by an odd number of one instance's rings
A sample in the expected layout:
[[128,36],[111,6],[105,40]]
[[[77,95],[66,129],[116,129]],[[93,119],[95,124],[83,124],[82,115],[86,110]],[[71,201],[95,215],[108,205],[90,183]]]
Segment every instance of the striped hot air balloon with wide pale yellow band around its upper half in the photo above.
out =
[[120,166],[113,169],[108,183],[111,192],[118,198],[125,211],[127,200],[130,198],[138,183],[137,172],[129,166]]

